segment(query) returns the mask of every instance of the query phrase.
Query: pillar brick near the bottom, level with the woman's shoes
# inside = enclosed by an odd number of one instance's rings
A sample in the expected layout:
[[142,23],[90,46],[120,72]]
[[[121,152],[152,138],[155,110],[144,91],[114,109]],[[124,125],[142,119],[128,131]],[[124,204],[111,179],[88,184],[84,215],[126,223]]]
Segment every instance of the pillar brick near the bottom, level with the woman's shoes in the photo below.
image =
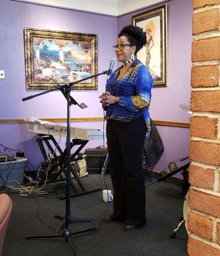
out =
[[203,238],[212,240],[212,219],[196,214],[194,212],[189,212],[187,228],[189,232],[192,232]]

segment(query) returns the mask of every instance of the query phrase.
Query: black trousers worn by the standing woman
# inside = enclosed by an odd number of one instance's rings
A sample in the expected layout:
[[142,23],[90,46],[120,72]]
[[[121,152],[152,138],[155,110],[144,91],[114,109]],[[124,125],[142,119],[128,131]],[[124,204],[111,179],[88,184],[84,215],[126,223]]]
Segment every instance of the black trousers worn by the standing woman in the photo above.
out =
[[145,218],[145,179],[142,168],[147,127],[143,116],[131,122],[107,120],[108,157],[114,188],[112,218],[142,225]]

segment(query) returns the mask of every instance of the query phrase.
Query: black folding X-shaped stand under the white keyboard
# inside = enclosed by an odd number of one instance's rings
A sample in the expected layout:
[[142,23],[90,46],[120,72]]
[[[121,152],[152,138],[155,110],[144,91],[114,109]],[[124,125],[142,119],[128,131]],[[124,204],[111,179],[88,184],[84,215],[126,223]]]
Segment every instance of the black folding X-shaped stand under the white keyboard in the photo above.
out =
[[[66,148],[62,152],[61,147],[59,147],[59,145],[57,145],[57,141],[55,140],[54,136],[52,136],[52,135],[40,134],[40,136],[38,138],[36,138],[36,141],[38,142],[38,145],[40,147],[40,150],[41,150],[41,153],[43,155],[45,162],[49,163],[50,160],[47,157],[47,153],[46,153],[45,147],[43,145],[43,142],[47,145],[50,152],[54,156],[54,158],[52,159],[52,161],[50,163],[50,172],[53,172],[53,170],[55,170],[58,167],[60,168],[60,170],[56,173],[56,175],[54,176],[54,179],[52,181],[56,181],[56,179],[59,177],[59,175],[61,175],[61,173],[64,177],[66,177]],[[57,150],[60,154],[59,156],[57,156],[57,153],[55,152],[54,148],[50,144],[51,142],[57,148]],[[77,145],[80,145],[80,147],[78,147],[77,150],[75,150],[75,152],[73,154],[71,154],[71,162],[73,162],[77,159],[78,153],[82,150],[82,148],[85,147],[85,145],[87,143],[88,143],[88,140],[79,140],[79,139],[72,140],[70,148],[73,148]],[[92,189],[92,190],[88,191],[85,188],[84,184],[82,184],[82,181],[80,180],[80,178],[78,177],[77,173],[75,172],[75,170],[73,169],[72,166],[71,166],[70,171],[71,171],[73,177],[75,178],[75,180],[78,184],[78,187],[80,188],[80,191],[78,191],[75,182],[73,182],[73,179],[71,179],[70,185],[71,185],[71,188],[73,189],[73,191],[75,192],[75,194],[70,195],[70,197],[80,196],[80,195],[84,195],[84,194],[88,194],[88,193],[92,193],[92,192],[101,190],[101,188],[98,188],[98,189]],[[49,182],[51,182],[51,181],[49,181]],[[65,198],[66,198],[66,196],[60,196],[61,200],[64,200]]]

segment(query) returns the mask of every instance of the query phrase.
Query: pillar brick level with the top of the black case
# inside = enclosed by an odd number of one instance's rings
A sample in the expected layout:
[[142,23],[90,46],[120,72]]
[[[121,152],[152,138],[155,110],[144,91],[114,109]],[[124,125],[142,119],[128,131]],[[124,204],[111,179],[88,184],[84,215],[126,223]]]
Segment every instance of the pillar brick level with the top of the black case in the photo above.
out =
[[191,140],[189,143],[189,158],[207,164],[220,165],[220,144]]

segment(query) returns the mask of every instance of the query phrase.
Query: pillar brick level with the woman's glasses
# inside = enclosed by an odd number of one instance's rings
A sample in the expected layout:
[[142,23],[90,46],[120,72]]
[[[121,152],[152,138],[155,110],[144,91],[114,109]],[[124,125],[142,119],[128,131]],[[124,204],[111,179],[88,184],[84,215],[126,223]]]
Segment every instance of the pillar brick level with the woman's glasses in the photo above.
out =
[[192,61],[219,60],[220,37],[194,40],[192,44]]

